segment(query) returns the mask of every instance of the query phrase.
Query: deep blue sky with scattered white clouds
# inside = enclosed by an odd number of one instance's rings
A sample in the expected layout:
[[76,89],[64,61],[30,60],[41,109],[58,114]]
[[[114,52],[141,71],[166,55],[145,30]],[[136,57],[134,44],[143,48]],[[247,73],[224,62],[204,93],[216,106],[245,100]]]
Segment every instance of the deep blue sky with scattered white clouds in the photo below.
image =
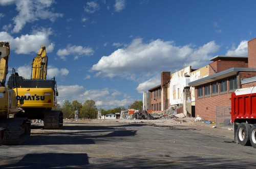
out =
[[[0,0],[0,41],[10,41],[9,72],[30,79],[47,47],[58,102],[88,99],[127,108],[160,84],[160,73],[247,56],[256,37],[256,1]],[[10,75],[10,74],[9,74]]]

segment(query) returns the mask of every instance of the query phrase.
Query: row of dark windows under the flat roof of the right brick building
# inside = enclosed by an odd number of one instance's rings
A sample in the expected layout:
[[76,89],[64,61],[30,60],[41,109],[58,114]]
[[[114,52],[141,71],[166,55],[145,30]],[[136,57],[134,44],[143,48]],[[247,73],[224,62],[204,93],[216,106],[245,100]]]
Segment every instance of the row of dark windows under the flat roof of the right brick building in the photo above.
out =
[[[211,84],[206,84],[204,86],[198,87],[197,90],[197,97],[202,98],[203,96],[210,96],[211,95],[217,95],[219,94],[219,89],[220,93],[227,92],[227,82],[229,82],[229,91],[234,91],[237,89],[237,77],[230,78],[229,80],[222,80],[219,82],[211,83]],[[211,93],[210,93],[210,86],[211,86]],[[204,89],[204,93],[203,93]]]

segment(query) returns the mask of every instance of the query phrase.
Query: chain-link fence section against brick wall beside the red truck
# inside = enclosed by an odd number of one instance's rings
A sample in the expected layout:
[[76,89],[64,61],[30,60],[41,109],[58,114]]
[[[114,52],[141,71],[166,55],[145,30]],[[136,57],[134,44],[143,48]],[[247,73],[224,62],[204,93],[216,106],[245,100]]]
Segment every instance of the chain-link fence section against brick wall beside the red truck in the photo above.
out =
[[231,107],[230,106],[216,106],[216,127],[232,128],[231,123]]

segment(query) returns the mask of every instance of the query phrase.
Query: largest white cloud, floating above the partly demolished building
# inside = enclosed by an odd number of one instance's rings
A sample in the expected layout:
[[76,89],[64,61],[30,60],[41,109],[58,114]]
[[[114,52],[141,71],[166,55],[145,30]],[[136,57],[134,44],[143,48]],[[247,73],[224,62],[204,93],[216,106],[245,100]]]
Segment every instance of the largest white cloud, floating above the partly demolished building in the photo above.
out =
[[[141,38],[137,38],[125,48],[103,56],[91,70],[105,77],[119,76],[138,80],[146,73],[181,69],[184,63],[193,68],[203,67],[209,63],[211,54],[217,52],[219,47],[215,41],[197,47],[190,44],[177,46],[173,41],[161,39],[143,43]],[[134,78],[131,78],[132,75],[135,75]]]

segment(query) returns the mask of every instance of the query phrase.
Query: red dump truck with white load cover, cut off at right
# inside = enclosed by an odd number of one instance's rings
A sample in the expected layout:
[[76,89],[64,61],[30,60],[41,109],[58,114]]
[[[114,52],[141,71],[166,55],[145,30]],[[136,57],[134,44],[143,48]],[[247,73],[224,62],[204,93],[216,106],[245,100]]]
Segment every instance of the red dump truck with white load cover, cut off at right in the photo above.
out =
[[256,148],[256,86],[237,89],[231,94],[231,121],[234,142]]

